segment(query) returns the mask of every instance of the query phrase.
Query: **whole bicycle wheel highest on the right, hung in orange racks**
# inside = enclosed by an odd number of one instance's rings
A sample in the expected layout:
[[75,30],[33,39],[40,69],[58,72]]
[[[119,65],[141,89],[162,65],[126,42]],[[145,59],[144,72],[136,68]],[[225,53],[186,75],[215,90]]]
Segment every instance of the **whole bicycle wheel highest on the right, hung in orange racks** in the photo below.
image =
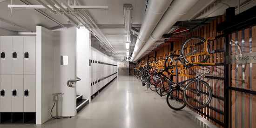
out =
[[[190,37],[187,40],[185,40],[182,43],[182,47],[181,47],[181,54],[182,54],[182,56],[185,56],[184,61],[189,62],[188,61],[189,56],[203,53],[204,52],[203,47],[205,45],[205,41],[206,41],[205,39],[203,39],[202,37],[199,37],[199,36],[193,36],[193,37]],[[209,53],[210,53],[209,45],[207,46],[206,50],[207,50],[206,52],[208,54],[202,54],[202,55],[198,55],[197,57],[195,57],[195,56],[191,57],[190,61],[192,61],[192,62],[206,62],[209,59]]]

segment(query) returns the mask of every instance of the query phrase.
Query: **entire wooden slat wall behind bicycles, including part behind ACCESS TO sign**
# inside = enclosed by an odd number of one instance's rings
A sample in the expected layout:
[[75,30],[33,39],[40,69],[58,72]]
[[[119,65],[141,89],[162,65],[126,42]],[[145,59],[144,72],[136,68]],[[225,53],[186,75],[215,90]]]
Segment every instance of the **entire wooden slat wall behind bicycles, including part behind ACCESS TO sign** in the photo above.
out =
[[[187,36],[181,37],[180,40],[173,42],[173,48],[175,52],[181,48],[182,42],[191,36],[201,36],[204,39],[209,37],[216,37],[222,33],[216,33],[216,25],[225,20],[224,16],[218,17],[213,22],[198,28],[194,32],[190,33]],[[228,49],[228,53],[232,54],[241,54],[238,53],[238,48],[235,43],[239,44],[242,53],[254,53],[256,52],[256,26],[246,28],[244,30],[234,32],[229,35],[229,42],[232,44]],[[234,42],[232,42],[233,40]],[[219,50],[224,48],[224,38],[217,39],[212,41],[209,44],[210,51]],[[158,47],[156,50],[157,57],[163,57],[164,54],[168,54],[170,51],[170,42],[163,44]],[[155,56],[155,51],[151,52],[149,56]],[[145,61],[147,61],[148,55],[146,55]],[[210,58],[207,62],[210,63],[224,63],[225,56],[223,52],[214,52],[210,54]],[[143,61],[143,58],[142,58]],[[256,64],[240,64],[240,65],[229,65],[230,78],[229,85],[235,88],[243,88],[248,90],[256,91]],[[224,78],[224,66],[207,66],[202,67],[202,69],[195,69],[198,72],[204,72],[205,70],[210,70],[210,76],[215,76],[218,78]],[[189,72],[188,72],[189,73]],[[175,76],[173,77],[174,81]],[[188,77],[180,77],[178,81],[184,81]],[[209,83],[214,97],[209,103],[209,107],[202,108],[201,110],[196,111],[192,110],[195,113],[198,113],[205,119],[214,123],[217,127],[223,128],[224,124],[224,81],[219,79],[204,79]],[[213,108],[213,109],[211,109]],[[247,94],[238,91],[229,91],[229,128],[256,128],[256,113],[253,108],[256,108],[256,95]],[[204,114],[204,115],[203,115]],[[208,115],[210,118],[208,118]],[[211,120],[213,119],[213,120]]]

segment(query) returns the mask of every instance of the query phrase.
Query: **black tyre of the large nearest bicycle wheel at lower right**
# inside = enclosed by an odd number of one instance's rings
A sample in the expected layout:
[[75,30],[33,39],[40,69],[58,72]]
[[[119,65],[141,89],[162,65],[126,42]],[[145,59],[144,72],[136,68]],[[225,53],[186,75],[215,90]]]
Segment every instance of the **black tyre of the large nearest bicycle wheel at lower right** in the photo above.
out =
[[[206,88],[205,90],[208,91],[208,92],[204,92],[204,90],[202,90],[202,89],[204,89],[204,87],[203,88],[199,88],[200,86],[198,87],[197,82],[202,83],[203,85],[205,85],[205,88]],[[192,85],[193,83],[195,83],[195,85]],[[189,87],[190,85],[192,85],[192,88]],[[195,92],[195,88],[196,89],[199,88],[198,90],[200,91],[200,100],[198,100],[199,96],[197,94],[196,94],[196,96],[194,95],[193,97],[190,96],[192,94],[195,94],[194,93]],[[192,90],[192,91],[189,92],[188,90]],[[203,93],[202,93],[202,91],[203,91]],[[204,98],[203,98],[203,100],[202,100],[201,99],[201,95],[202,94],[208,95],[209,98],[207,100],[204,100]],[[206,107],[210,103],[210,101],[212,99],[212,90],[211,90],[211,88],[210,88],[210,86],[209,86],[209,84],[207,82],[194,80],[194,81],[190,81],[186,85],[185,89],[183,90],[183,97],[184,97],[184,101],[186,102],[187,105],[189,105],[189,107],[194,108],[194,109],[202,109],[202,108]],[[188,98],[190,98],[191,100],[188,101]]]

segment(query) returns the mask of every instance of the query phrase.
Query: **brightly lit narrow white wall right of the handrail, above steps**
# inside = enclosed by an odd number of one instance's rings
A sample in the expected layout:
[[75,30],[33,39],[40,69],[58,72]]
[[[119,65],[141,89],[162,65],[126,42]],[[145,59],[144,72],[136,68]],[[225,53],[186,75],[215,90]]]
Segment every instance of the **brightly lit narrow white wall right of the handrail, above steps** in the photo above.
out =
[[76,30],[76,76],[81,81],[76,82],[76,94],[82,94],[82,99],[91,100],[91,40],[90,32],[85,27]]

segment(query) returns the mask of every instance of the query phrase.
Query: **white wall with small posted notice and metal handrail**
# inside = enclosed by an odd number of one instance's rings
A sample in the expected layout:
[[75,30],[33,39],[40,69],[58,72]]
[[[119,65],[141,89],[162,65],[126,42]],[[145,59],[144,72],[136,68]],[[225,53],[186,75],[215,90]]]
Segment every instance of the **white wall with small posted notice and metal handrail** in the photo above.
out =
[[[67,86],[68,80],[76,78],[75,49],[76,27],[54,31],[54,93],[62,93],[58,100],[58,116],[76,115],[76,86]],[[68,56],[68,65],[61,65],[61,55]]]

